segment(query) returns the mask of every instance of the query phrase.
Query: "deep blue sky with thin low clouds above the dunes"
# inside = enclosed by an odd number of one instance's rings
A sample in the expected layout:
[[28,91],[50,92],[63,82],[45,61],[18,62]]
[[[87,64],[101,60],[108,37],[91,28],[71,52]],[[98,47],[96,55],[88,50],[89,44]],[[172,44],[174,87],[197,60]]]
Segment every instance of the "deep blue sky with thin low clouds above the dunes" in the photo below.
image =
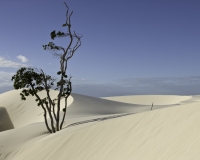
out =
[[[200,94],[199,0],[66,3],[74,12],[72,30],[83,35],[68,63],[73,92]],[[0,93],[13,89],[10,78],[22,66],[56,76],[59,59],[42,45],[52,41],[51,31],[65,31],[65,11],[61,0],[0,2]],[[54,42],[68,44],[66,38]]]

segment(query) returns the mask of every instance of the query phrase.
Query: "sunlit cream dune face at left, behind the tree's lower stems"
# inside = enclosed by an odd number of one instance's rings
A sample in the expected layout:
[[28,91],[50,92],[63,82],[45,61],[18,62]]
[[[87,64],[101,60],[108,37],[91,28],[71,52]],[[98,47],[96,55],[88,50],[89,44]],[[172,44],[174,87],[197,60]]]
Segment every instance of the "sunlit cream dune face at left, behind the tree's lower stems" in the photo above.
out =
[[[0,94],[0,104],[7,109],[7,112],[13,122],[14,127],[21,127],[35,122],[43,122],[43,110],[37,106],[35,97],[27,97],[26,101],[22,101],[20,98],[21,90],[13,90]],[[58,91],[52,90],[50,95],[55,98]],[[45,92],[39,93],[44,98]],[[73,98],[70,96],[68,104],[73,102]],[[64,101],[61,102],[64,105]]]

